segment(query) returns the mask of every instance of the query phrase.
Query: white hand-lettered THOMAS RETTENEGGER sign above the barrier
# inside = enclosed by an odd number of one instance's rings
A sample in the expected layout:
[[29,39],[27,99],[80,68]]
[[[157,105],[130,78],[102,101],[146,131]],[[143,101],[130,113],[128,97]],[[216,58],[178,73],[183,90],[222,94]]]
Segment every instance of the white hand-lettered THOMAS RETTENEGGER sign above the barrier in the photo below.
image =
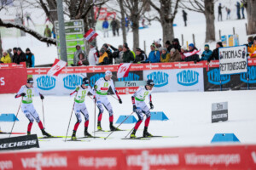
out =
[[247,47],[219,48],[219,70],[221,75],[247,72]]

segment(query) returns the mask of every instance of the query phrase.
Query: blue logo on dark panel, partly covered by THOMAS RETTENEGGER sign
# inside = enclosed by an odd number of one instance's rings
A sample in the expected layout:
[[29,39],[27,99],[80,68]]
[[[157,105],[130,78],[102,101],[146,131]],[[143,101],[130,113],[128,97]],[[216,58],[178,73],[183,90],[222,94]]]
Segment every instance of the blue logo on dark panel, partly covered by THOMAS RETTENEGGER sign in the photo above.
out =
[[221,84],[230,82],[230,75],[220,76],[218,68],[212,69],[212,71],[208,71],[207,77],[208,77],[208,82],[215,84],[215,85],[220,85],[220,82],[221,82]]

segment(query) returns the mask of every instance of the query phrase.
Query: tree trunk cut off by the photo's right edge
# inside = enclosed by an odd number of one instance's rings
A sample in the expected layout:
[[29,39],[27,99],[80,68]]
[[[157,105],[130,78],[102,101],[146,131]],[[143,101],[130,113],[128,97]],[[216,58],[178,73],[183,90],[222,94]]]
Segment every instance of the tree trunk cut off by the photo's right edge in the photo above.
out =
[[248,34],[256,34],[256,1],[246,0],[245,4],[247,9]]

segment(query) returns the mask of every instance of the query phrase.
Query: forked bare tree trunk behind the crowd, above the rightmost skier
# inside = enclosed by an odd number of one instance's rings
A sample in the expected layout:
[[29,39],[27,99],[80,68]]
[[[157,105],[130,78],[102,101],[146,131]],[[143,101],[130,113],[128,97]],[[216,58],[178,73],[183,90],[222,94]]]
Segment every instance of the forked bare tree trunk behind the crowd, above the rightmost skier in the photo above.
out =
[[[172,4],[174,3],[173,0],[159,0],[160,7],[153,3],[152,0],[149,0],[148,3],[159,13],[160,18],[156,17],[158,21],[160,21],[162,30],[163,30],[163,42],[167,40],[172,40],[174,38],[173,32],[173,20],[175,15],[177,14],[177,7],[179,0],[176,0],[174,7]],[[173,8],[173,9],[172,9]],[[172,12],[173,11],[173,12]]]

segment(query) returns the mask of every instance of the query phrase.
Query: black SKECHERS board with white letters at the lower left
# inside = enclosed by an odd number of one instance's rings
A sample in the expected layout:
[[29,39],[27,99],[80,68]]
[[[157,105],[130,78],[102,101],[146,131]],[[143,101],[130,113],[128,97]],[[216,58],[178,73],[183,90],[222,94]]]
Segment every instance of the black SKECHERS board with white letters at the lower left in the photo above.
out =
[[39,148],[37,134],[0,139],[0,150]]

